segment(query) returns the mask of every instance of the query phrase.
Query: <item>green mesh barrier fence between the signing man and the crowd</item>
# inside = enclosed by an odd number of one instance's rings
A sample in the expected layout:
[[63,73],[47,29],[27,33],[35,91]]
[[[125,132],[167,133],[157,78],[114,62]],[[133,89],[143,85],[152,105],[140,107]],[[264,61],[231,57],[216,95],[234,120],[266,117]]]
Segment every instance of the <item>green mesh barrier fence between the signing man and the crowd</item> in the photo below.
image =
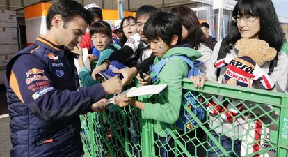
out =
[[194,100],[205,110],[201,121],[184,105],[198,125],[167,124],[166,137],[159,137],[156,121],[141,119],[138,109],[110,105],[81,116],[85,156],[288,156],[288,94],[211,82],[197,89],[189,79],[183,88],[197,91]]

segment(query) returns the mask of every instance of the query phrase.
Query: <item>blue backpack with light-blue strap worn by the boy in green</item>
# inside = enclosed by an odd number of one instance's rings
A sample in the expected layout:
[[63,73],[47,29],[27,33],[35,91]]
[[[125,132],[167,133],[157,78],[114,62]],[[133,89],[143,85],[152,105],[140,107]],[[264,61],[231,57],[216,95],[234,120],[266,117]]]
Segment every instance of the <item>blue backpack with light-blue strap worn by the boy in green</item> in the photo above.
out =
[[[184,56],[172,56],[166,59],[161,59],[154,65],[154,72],[156,74],[156,77],[158,77],[161,69],[163,68],[163,66],[166,65],[166,63],[168,63],[170,59],[181,59],[188,64],[188,66],[190,67],[189,73],[187,75],[188,78],[190,76],[201,75],[198,68],[198,66],[200,66],[200,62],[196,61],[194,63],[193,61]],[[205,110],[200,105],[201,100],[197,91],[187,91],[186,89],[183,89],[182,102],[186,107],[189,107],[191,112],[193,112],[195,114],[195,117],[198,117],[200,121],[205,118]],[[182,105],[180,107],[179,119],[176,121],[175,124],[180,130],[191,130],[192,126],[198,125],[198,123],[193,119],[193,117],[191,117],[191,114],[189,114],[189,112],[187,112]]]

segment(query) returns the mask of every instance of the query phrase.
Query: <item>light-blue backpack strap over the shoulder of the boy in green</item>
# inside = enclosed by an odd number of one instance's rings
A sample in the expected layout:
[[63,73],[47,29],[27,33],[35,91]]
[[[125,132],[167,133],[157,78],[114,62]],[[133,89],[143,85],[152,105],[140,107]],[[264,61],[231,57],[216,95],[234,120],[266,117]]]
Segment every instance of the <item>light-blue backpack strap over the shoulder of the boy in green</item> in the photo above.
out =
[[184,57],[184,56],[167,57],[166,59],[161,59],[158,63],[155,64],[154,70],[155,70],[155,73],[156,73],[157,77],[158,77],[161,69],[163,68],[163,66],[166,65],[166,63],[169,61],[169,59],[175,59],[175,58],[178,58],[178,59],[181,59],[182,61],[185,61],[185,63],[187,63],[191,68],[194,68],[193,61],[191,61],[187,57]]

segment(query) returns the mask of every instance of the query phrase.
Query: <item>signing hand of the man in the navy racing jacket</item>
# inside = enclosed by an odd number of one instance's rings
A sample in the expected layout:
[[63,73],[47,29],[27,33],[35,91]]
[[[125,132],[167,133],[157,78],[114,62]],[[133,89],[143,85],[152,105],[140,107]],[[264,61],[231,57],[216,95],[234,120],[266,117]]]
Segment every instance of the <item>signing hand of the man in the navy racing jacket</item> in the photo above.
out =
[[106,94],[120,94],[122,90],[122,82],[117,77],[112,77],[109,80],[106,80],[102,83],[104,91]]

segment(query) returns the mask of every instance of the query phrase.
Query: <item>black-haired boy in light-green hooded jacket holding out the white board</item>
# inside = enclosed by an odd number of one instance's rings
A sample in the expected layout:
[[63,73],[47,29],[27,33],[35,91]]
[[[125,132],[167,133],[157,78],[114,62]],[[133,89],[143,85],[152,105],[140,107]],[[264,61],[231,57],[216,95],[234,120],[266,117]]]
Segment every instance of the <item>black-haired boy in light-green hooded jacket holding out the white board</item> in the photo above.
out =
[[[150,40],[150,48],[156,56],[154,59],[155,65],[161,59],[167,59],[171,56],[184,56],[193,61],[200,58],[202,54],[189,47],[179,47],[177,44],[181,42],[182,24],[177,20],[177,17],[172,13],[158,12],[150,17],[144,26],[144,35]],[[115,103],[120,107],[132,105],[141,110],[142,119],[155,120],[154,132],[159,135],[157,137],[167,139],[166,128],[175,129],[172,127],[177,119],[179,119],[180,106],[182,104],[182,79],[187,76],[189,66],[182,59],[170,59],[166,63],[158,76],[155,75],[152,68],[152,73],[149,75],[143,74],[144,79],[137,79],[141,85],[145,84],[168,84],[168,87],[163,90],[162,94],[157,96],[142,96],[138,101],[134,98],[119,96],[115,98]],[[154,79],[157,77],[157,79]],[[152,81],[152,82],[151,82]],[[162,149],[162,150],[161,150]],[[160,148],[161,156],[165,151]]]

